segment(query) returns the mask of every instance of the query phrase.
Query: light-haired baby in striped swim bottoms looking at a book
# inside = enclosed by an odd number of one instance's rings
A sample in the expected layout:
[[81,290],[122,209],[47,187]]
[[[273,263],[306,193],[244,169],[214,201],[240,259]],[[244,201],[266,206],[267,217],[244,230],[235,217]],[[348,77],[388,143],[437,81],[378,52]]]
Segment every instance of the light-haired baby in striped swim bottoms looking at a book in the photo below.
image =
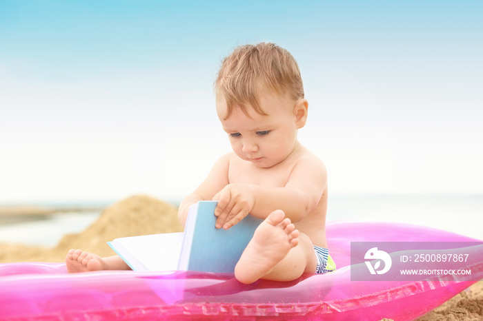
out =
[[[233,152],[221,156],[181,202],[181,224],[199,200],[218,200],[217,228],[229,229],[248,214],[263,218],[235,267],[242,283],[332,271],[326,167],[297,141],[308,111],[297,62],[273,43],[240,46],[224,59],[215,92]],[[129,269],[118,256],[74,249],[66,262],[70,272]]]

